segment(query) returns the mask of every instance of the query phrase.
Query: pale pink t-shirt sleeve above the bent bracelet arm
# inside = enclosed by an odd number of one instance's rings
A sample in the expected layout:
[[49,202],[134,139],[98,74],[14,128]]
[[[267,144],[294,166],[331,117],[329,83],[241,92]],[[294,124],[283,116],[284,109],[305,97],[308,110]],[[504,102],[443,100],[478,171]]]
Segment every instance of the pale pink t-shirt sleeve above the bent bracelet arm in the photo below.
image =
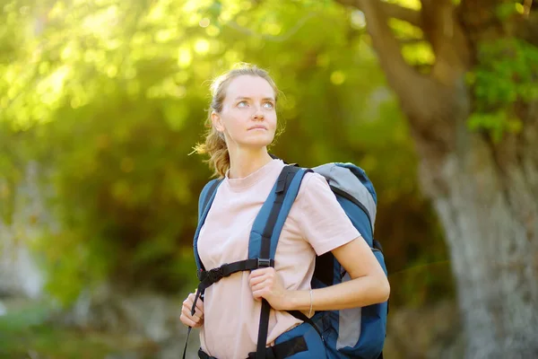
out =
[[297,197],[299,230],[320,256],[360,237],[325,178],[308,173]]

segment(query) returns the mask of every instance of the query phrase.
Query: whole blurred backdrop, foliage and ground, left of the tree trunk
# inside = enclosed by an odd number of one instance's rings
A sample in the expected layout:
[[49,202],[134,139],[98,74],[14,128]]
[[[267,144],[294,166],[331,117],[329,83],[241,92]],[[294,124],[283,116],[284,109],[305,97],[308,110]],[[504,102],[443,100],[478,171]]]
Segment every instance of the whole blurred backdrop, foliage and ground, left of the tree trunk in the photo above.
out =
[[[363,13],[324,0],[0,9],[0,357],[179,357],[196,204],[211,176],[189,153],[210,80],[241,61],[268,69],[284,94],[274,154],[354,162],[373,181],[392,286],[387,350],[454,345],[457,320],[432,324],[456,318],[443,232]],[[390,25],[409,63],[430,64],[418,28]],[[414,349],[395,339],[402,322],[421,328]]]

